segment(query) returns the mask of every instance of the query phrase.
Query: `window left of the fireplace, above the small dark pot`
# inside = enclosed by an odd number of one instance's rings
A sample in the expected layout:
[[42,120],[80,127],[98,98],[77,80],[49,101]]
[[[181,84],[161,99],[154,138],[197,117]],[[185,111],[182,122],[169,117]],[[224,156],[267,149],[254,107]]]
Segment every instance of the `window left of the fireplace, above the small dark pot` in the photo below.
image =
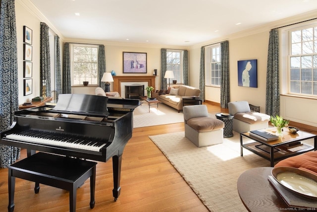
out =
[[71,45],[72,85],[82,85],[83,81],[97,85],[98,78],[98,46]]

